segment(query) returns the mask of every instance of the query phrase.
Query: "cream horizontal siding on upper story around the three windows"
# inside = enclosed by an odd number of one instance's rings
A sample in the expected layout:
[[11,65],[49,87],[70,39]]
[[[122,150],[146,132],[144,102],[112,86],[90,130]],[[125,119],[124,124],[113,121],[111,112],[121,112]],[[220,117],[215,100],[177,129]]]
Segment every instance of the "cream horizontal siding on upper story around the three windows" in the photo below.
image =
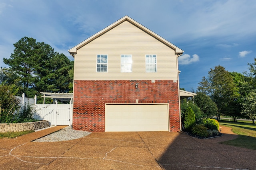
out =
[[[108,72],[96,72],[97,54],[108,54]],[[132,72],[121,73],[120,55],[132,55]],[[146,73],[145,55],[157,56],[157,72]],[[177,55],[128,21],[77,50],[74,80],[178,80]]]

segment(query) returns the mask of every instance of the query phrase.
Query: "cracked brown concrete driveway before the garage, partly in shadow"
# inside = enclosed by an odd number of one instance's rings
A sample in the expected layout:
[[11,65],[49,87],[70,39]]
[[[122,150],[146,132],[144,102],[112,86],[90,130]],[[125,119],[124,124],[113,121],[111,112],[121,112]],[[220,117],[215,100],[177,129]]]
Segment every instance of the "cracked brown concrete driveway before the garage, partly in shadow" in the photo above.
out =
[[[45,135],[45,131],[41,133]],[[232,134],[195,139],[178,132],[109,132],[72,141],[32,142],[38,136],[40,131],[16,139],[0,139],[0,169],[256,169],[256,150],[218,144],[237,137]]]

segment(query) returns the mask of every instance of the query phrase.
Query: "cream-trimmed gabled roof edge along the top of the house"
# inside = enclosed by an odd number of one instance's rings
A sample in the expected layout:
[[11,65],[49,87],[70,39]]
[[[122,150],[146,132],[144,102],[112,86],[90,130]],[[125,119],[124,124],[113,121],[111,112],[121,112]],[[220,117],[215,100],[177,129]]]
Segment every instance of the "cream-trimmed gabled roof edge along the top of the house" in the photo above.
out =
[[116,27],[117,25],[119,25],[120,23],[124,22],[124,21],[128,21],[130,23],[132,23],[133,25],[135,25],[136,27],[140,28],[141,30],[145,31],[146,33],[148,33],[149,35],[151,35],[152,37],[158,39],[159,41],[161,41],[162,43],[164,43],[165,45],[167,45],[168,47],[172,48],[175,50],[175,54],[178,55],[182,55],[182,53],[184,51],[182,51],[182,49],[176,47],[175,45],[173,45],[172,43],[170,43],[169,41],[167,41],[166,39],[160,37],[159,35],[157,35],[156,33],[154,33],[153,31],[151,31],[150,29],[144,27],[143,25],[141,25],[140,23],[138,23],[137,21],[133,20],[132,18],[128,17],[128,16],[124,16],[123,18],[121,18],[120,20],[112,23],[111,25],[109,25],[108,27],[102,29],[100,32],[92,35],[91,37],[89,37],[88,39],[84,40],[82,43],[76,45],[75,47],[73,47],[72,49],[68,50],[68,52],[74,57],[74,55],[76,55],[77,50],[80,49],[81,47],[83,47],[84,45],[90,43],[91,41],[93,41],[94,39],[98,38],[100,35],[106,33],[107,31],[109,31],[110,29],[113,29],[114,27]]

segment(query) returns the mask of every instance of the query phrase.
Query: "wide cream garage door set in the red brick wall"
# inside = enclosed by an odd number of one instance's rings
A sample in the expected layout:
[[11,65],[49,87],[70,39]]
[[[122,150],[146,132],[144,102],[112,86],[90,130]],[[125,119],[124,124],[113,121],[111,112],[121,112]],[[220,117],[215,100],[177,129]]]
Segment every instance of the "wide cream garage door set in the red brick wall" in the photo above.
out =
[[106,104],[105,131],[169,131],[168,104]]

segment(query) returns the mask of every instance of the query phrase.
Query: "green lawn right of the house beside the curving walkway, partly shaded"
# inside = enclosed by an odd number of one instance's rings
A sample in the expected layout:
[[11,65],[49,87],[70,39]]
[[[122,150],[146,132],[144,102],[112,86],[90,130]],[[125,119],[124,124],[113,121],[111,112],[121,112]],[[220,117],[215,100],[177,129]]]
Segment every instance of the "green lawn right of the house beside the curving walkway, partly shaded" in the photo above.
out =
[[222,144],[256,150],[256,124],[223,120],[219,123],[231,127],[238,134],[237,139],[221,142]]

